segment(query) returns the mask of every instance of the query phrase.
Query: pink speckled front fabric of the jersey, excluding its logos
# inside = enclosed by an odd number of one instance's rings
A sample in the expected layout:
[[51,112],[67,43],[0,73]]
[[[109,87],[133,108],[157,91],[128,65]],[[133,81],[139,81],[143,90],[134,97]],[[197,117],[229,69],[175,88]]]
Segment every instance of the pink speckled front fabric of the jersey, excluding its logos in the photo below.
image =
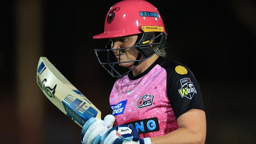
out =
[[[117,80],[109,97],[110,105],[125,100],[127,103],[123,113],[115,116],[115,126],[157,117],[160,130],[141,134],[141,138],[162,136],[178,129],[178,123],[166,94],[166,76],[165,69],[156,65],[142,78],[131,80],[128,76],[124,76]],[[136,103],[145,94],[154,96],[153,103],[151,106],[138,108]]]

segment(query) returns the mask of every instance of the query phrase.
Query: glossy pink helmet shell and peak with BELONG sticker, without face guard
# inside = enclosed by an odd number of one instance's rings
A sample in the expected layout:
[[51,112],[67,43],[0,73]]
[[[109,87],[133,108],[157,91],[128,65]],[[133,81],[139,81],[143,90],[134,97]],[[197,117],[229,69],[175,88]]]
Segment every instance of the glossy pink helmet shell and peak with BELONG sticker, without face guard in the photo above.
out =
[[162,31],[166,34],[163,19],[156,7],[145,0],[123,0],[109,9],[105,18],[104,32],[95,35],[93,39],[143,33],[142,29],[145,26],[156,26],[151,27],[150,31]]

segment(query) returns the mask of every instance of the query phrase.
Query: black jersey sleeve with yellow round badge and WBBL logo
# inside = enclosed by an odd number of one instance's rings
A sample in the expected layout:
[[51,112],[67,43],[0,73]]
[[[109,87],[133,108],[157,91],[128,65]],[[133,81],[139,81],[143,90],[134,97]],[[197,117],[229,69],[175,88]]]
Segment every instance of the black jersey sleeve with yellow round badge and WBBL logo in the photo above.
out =
[[205,111],[198,81],[184,65],[176,66],[167,77],[167,96],[176,118],[190,109]]

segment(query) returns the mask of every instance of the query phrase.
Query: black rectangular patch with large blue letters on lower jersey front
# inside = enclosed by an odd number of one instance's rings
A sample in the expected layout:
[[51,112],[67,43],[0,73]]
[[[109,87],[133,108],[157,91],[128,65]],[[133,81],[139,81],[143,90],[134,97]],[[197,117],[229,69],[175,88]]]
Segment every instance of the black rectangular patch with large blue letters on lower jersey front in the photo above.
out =
[[132,124],[137,130],[139,134],[143,133],[152,133],[155,131],[159,131],[159,123],[158,118],[148,118],[144,120],[136,120],[133,122],[126,123],[127,125]]

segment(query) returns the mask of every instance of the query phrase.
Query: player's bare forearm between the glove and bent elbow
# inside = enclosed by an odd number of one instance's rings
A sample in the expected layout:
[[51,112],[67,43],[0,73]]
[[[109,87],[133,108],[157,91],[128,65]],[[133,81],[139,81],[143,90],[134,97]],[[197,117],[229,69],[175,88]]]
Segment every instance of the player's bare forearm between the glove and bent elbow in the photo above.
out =
[[204,144],[205,134],[180,127],[161,137],[152,137],[152,144]]

